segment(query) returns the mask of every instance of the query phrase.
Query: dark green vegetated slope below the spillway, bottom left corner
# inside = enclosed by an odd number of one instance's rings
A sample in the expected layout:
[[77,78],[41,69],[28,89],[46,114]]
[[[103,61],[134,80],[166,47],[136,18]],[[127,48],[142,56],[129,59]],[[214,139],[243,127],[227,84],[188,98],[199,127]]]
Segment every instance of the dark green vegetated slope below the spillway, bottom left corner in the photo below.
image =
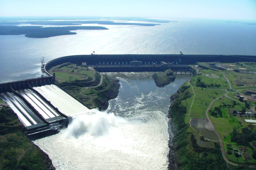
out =
[[55,169],[49,156],[25,137],[10,108],[0,110],[0,121],[0,169]]

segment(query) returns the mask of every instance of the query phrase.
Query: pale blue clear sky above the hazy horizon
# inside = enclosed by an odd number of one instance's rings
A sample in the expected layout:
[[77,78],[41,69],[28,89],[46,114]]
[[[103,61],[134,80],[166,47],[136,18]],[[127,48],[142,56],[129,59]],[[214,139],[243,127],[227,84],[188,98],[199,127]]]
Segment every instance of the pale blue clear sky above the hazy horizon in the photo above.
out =
[[256,21],[256,0],[0,0],[0,16],[115,16]]

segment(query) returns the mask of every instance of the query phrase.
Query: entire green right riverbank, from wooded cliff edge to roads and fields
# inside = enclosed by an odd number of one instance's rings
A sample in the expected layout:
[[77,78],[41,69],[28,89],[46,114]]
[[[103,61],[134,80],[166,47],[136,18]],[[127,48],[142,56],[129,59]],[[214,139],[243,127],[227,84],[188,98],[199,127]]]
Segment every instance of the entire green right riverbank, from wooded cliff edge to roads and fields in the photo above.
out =
[[254,167],[256,129],[247,120],[256,120],[255,63],[199,63],[196,69],[170,98],[169,162],[178,169]]

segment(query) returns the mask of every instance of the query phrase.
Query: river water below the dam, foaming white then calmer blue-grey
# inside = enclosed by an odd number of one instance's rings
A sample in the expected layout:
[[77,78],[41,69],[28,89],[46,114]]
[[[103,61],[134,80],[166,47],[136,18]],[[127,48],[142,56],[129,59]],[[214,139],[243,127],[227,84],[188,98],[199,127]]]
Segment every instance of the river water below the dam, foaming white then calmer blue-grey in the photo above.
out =
[[158,88],[152,74],[107,73],[121,87],[106,112],[76,114],[67,129],[34,142],[57,169],[166,169],[169,98],[191,76]]

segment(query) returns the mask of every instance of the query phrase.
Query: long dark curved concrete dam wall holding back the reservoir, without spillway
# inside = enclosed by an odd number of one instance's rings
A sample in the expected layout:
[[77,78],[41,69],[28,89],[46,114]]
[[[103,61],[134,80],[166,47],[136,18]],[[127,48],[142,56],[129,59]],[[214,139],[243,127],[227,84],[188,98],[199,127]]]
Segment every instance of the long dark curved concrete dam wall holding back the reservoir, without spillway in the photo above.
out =
[[[131,62],[140,61],[140,65],[131,66]],[[161,62],[169,65],[188,65],[196,64],[197,62],[221,62],[221,63],[235,63],[235,62],[256,62],[256,56],[245,55],[176,55],[176,54],[124,54],[124,55],[73,55],[56,58],[45,64],[45,70],[63,63],[74,63],[77,65],[95,66],[95,69],[100,72],[114,72],[114,71],[162,71]],[[130,66],[128,66],[130,65]],[[158,66],[151,67],[151,66]],[[143,67],[138,69],[138,67]],[[105,67],[105,68],[104,68]],[[110,67],[112,67],[110,69]],[[123,68],[120,68],[123,67]],[[134,67],[137,67],[134,69]],[[147,69],[146,69],[147,67]]]

